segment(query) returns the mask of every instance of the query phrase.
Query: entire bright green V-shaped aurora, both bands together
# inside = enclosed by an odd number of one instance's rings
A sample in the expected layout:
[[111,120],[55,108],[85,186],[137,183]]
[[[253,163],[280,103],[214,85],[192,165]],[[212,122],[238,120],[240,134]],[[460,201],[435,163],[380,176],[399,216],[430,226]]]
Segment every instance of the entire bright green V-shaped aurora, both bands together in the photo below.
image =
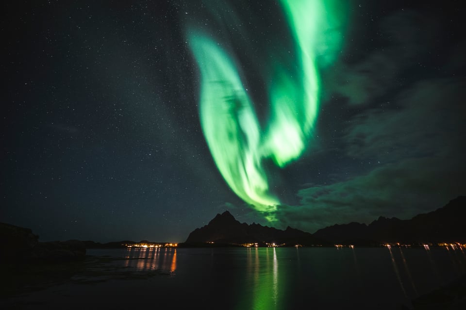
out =
[[[319,97],[317,65],[333,62],[340,46],[334,1],[282,0],[299,57],[298,76],[278,59],[270,60],[270,119],[261,128],[233,57],[208,33],[188,31],[200,68],[200,121],[216,166],[231,189],[267,219],[280,200],[269,188],[263,161],[279,167],[297,160],[316,123]],[[329,5],[331,4],[331,5]],[[292,56],[290,56],[292,57]],[[317,64],[318,63],[318,64]]]

